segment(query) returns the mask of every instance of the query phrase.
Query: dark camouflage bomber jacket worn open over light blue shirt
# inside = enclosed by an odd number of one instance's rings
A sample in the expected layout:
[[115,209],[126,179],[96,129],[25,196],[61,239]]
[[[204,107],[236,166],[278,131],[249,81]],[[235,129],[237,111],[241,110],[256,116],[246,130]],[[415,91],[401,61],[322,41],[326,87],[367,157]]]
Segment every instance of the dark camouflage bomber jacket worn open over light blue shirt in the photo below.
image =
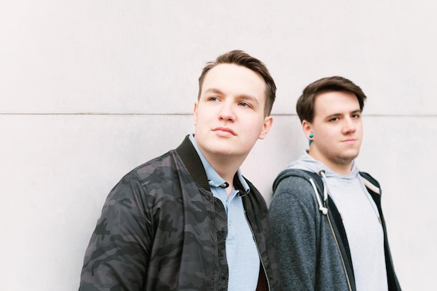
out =
[[[248,184],[243,203],[261,260],[257,290],[279,290],[267,206]],[[213,197],[187,136],[110,191],[85,253],[79,290],[226,291],[226,227],[223,204]]]

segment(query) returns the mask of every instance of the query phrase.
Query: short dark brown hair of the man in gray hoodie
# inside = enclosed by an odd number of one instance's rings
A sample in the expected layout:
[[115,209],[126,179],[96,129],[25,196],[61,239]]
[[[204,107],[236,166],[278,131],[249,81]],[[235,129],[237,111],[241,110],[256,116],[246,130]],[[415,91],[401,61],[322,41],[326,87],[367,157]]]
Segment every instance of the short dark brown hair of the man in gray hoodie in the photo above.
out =
[[316,96],[330,91],[349,91],[355,94],[358,103],[360,103],[360,110],[363,110],[366,95],[364,95],[364,92],[360,87],[345,77],[325,77],[306,86],[302,95],[297,100],[296,112],[301,122],[304,120],[310,123],[313,122]]

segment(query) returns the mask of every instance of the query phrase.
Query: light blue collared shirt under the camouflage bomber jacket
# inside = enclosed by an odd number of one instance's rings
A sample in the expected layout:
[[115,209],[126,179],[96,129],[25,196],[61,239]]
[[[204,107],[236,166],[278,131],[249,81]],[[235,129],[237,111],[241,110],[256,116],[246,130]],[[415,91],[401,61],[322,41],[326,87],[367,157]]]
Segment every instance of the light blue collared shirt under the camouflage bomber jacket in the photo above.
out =
[[212,195],[222,202],[228,216],[228,234],[226,235],[226,259],[229,269],[228,291],[254,291],[258,284],[260,258],[255,241],[253,241],[251,227],[244,214],[242,200],[242,196],[250,195],[249,185],[238,169],[236,174],[246,193],[240,193],[232,188],[228,196],[226,188],[223,188],[226,181],[218,175],[203,156],[194,136],[190,135],[189,138],[198,152],[203,167],[205,167]]

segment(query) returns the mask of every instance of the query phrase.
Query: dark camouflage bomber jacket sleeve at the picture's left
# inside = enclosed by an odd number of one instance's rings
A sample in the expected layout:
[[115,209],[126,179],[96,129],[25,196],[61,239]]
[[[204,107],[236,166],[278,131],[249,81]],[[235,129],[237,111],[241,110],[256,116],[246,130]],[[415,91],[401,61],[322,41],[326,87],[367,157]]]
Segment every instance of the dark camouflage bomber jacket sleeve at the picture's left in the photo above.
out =
[[153,239],[145,200],[135,174],[112,189],[85,253],[80,291],[142,290]]

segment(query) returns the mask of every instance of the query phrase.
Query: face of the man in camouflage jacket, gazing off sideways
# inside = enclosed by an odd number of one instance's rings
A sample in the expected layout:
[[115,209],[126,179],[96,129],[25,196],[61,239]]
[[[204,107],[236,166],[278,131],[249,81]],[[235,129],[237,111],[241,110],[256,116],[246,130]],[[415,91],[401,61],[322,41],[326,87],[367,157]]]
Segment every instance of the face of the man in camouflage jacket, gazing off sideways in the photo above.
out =
[[272,117],[264,116],[266,85],[258,73],[235,64],[219,64],[203,80],[194,105],[195,141],[210,158],[242,158],[263,139]]

